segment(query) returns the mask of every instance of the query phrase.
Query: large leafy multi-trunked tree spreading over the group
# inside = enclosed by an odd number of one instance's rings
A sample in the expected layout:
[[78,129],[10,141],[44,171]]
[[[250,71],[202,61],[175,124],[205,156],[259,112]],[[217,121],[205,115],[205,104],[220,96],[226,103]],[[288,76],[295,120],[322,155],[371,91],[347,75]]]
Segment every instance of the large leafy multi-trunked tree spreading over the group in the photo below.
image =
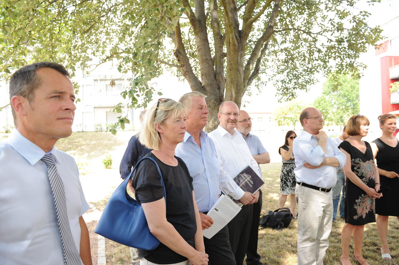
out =
[[114,60],[134,76],[122,96],[140,107],[163,64],[207,95],[211,129],[220,103],[240,106],[250,86],[273,82],[289,100],[316,73],[362,68],[356,59],[381,29],[358,2],[366,0],[3,0],[0,74],[40,60],[72,73],[90,70],[90,56]]

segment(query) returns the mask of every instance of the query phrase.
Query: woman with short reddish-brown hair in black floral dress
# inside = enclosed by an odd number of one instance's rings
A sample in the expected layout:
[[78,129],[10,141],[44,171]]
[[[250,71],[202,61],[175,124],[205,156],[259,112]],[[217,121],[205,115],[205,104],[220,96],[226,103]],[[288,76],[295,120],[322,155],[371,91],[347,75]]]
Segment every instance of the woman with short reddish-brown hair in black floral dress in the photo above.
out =
[[340,258],[344,265],[351,264],[349,245],[352,234],[354,240],[352,259],[359,264],[368,264],[361,253],[364,225],[375,222],[375,199],[381,197],[381,194],[377,193],[380,185],[373,152],[370,144],[361,140],[367,135],[369,124],[369,120],[363,115],[352,116],[346,125],[346,133],[350,137],[339,146],[346,154],[345,225],[341,233]]

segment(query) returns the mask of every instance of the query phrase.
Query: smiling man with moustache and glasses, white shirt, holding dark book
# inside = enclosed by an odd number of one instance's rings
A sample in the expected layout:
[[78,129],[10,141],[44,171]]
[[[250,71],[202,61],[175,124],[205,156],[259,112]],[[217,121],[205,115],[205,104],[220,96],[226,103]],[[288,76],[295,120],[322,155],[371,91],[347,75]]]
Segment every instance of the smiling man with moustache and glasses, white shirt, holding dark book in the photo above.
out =
[[[258,175],[258,163],[251,155],[243,136],[235,129],[239,119],[239,109],[232,101],[225,101],[217,113],[219,126],[208,134],[215,143],[217,158],[230,177],[235,177],[247,166],[251,166]],[[249,233],[251,231],[253,203],[259,199],[259,191],[254,199],[244,205],[241,211],[229,222],[229,238],[237,265],[242,265],[247,252]]]

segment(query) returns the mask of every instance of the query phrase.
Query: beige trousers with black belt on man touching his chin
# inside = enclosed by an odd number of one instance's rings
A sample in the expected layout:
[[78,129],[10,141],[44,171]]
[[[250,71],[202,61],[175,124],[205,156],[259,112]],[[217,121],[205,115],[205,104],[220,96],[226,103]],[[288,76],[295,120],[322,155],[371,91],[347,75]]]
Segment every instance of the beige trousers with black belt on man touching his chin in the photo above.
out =
[[322,265],[332,228],[332,192],[296,184],[298,265]]

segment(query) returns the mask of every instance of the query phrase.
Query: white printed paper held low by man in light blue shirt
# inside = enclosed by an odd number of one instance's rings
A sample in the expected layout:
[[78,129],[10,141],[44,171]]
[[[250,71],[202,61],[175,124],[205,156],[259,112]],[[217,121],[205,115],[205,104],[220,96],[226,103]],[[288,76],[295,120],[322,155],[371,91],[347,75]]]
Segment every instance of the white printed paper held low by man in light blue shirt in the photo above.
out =
[[237,203],[229,198],[229,196],[222,194],[207,214],[213,219],[213,224],[211,227],[202,230],[203,236],[207,239],[211,239],[217,232],[225,227],[240,210],[241,207],[237,205]]

